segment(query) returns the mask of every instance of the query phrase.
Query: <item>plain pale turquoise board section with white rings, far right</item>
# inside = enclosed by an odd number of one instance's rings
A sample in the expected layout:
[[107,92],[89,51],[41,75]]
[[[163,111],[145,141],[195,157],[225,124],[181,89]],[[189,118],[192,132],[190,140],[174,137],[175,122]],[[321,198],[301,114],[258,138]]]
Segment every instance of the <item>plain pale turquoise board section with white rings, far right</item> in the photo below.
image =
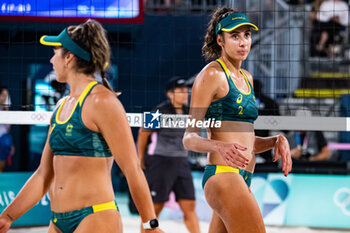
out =
[[285,224],[350,228],[350,176],[293,175]]

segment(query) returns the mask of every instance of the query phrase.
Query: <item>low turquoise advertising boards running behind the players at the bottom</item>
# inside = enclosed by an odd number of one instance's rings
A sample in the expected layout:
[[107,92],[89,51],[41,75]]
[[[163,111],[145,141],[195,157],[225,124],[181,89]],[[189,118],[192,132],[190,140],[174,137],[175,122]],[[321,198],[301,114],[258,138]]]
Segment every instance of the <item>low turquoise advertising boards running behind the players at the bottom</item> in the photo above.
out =
[[[31,174],[0,174],[0,212],[16,197]],[[203,173],[193,172],[192,175],[196,213],[201,221],[210,221],[212,210],[201,187]],[[251,189],[266,225],[350,228],[350,176],[254,174]],[[120,208],[127,209],[127,206]],[[174,194],[170,195],[160,218],[183,219]],[[49,221],[50,203],[45,195],[13,225],[47,225]]]

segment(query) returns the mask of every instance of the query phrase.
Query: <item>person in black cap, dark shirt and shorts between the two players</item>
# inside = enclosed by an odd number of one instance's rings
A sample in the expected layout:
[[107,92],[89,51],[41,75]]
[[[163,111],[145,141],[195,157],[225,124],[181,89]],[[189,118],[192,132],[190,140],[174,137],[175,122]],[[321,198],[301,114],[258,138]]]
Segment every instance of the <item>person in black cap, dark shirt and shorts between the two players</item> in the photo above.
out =
[[[188,114],[188,87],[181,77],[173,77],[166,85],[168,100],[154,111],[161,114]],[[170,192],[184,213],[185,225],[190,233],[199,233],[198,217],[195,213],[195,194],[188,152],[182,144],[185,128],[140,128],[137,147],[141,167],[151,190],[156,215],[159,216]]]

